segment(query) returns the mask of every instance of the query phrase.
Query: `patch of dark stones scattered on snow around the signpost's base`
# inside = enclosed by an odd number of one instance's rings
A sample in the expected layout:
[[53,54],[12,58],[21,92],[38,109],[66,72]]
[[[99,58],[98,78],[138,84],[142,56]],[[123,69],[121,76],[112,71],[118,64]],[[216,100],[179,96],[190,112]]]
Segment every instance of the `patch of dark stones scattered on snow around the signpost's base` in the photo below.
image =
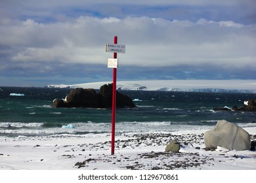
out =
[[[181,142],[183,146],[192,146],[190,142],[196,144],[203,144],[203,134],[188,134],[188,135],[174,135],[171,133],[147,133],[147,134],[134,134],[134,135],[125,135],[131,139],[127,140],[118,140],[116,141],[116,150],[125,150],[131,148],[146,148],[147,146],[161,146],[162,144],[168,144],[170,139],[177,139],[177,141]],[[104,149],[104,145],[110,145],[111,142],[107,141],[99,144],[95,144],[95,148],[100,151],[100,149]],[[199,147],[197,147],[199,148]],[[98,154],[100,155],[100,154]],[[92,157],[92,155],[91,155]],[[172,159],[172,160],[171,160]],[[99,161],[105,161],[108,163],[123,164],[121,169],[131,169],[131,170],[139,170],[139,169],[151,169],[151,170],[171,170],[171,169],[187,169],[189,167],[200,167],[200,165],[213,165],[211,161],[214,159],[211,157],[200,157],[198,152],[195,153],[181,153],[181,152],[146,152],[146,153],[138,153],[135,158],[131,158],[131,156],[125,155],[115,155],[109,156],[106,154],[102,154],[102,156],[98,156],[97,158],[87,158],[82,162],[75,163],[75,167],[77,169],[81,169],[83,167],[89,167],[90,164],[95,164]],[[163,163],[143,163],[143,161],[160,161]],[[167,163],[168,161],[168,163]],[[96,168],[95,168],[96,169]]]

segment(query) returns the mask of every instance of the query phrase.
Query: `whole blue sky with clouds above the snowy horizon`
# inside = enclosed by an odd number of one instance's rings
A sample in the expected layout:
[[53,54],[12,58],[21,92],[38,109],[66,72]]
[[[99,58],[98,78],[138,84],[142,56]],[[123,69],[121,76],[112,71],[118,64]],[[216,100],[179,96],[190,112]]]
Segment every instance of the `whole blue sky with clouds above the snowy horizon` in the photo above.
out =
[[[106,3],[108,2],[108,3]],[[1,0],[0,86],[256,79],[254,0]]]

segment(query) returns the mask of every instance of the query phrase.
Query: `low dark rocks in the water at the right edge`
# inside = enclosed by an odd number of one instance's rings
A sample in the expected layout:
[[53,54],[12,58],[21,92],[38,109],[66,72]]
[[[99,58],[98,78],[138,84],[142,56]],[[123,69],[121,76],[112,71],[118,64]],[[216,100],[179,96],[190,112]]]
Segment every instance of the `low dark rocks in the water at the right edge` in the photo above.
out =
[[233,106],[231,109],[227,107],[223,107],[223,108],[213,108],[213,110],[215,111],[218,111],[218,110],[256,111],[256,99],[244,101],[243,107]]

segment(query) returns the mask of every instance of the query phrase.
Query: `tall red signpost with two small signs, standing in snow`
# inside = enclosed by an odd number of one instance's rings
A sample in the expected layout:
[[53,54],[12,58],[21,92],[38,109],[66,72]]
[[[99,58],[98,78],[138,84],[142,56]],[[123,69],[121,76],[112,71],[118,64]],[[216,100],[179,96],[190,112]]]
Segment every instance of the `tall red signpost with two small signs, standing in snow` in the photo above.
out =
[[115,127],[116,127],[116,74],[117,74],[117,53],[125,53],[125,44],[117,44],[117,36],[114,37],[114,44],[106,44],[106,52],[114,52],[114,58],[108,59],[108,67],[113,68],[113,90],[112,90],[112,139],[111,154],[115,153]]

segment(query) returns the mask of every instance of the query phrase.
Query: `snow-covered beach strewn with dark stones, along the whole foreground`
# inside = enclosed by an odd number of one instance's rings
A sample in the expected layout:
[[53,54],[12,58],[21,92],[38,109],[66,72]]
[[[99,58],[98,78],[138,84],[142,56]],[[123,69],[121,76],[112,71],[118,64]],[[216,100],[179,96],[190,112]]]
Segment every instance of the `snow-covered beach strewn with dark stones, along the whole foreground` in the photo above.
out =
[[[250,137],[256,140],[256,135]],[[107,139],[110,134],[1,137],[0,169],[205,170],[256,166],[255,150],[207,150],[203,133],[117,135],[114,155]],[[179,152],[165,152],[172,139],[180,142]]]

